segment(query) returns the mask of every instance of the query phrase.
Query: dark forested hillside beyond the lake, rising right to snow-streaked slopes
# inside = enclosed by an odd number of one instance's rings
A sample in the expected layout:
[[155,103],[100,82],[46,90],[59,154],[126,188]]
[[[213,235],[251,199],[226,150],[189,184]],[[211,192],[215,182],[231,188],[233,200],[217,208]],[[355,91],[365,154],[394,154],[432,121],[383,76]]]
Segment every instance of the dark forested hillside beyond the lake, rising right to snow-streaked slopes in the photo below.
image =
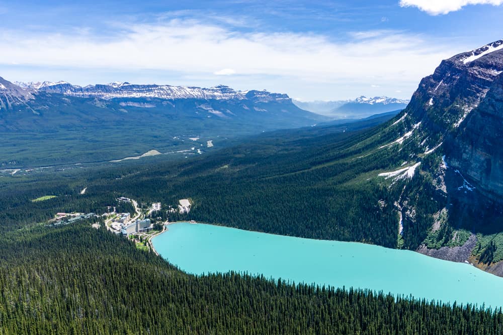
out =
[[[14,197],[1,199],[7,208],[2,216],[22,225],[34,217],[48,219],[60,210],[100,213],[122,195],[166,206],[189,198],[191,212],[172,213],[171,220],[410,250],[461,246],[471,234],[478,234],[475,261],[489,255],[481,263],[498,262],[500,253],[490,247],[497,227],[487,230],[460,213],[466,217],[462,226],[441,224],[442,229],[432,231],[442,208],[457,200],[439,191],[440,149],[425,152],[423,137],[407,137],[415,128],[406,114],[407,110],[384,124],[386,119],[377,118],[266,133],[186,162],[129,164],[82,173],[70,169],[56,178],[42,173],[47,180],[39,178],[32,184],[17,183],[22,177],[10,176],[5,180],[13,183],[7,187]],[[401,137],[403,143],[397,143]],[[83,187],[88,187],[86,194],[78,194]],[[53,193],[58,196],[43,204],[26,205]],[[23,206],[33,209],[28,216],[20,213]],[[454,210],[450,217],[455,217]],[[496,249],[497,241],[492,242]]]

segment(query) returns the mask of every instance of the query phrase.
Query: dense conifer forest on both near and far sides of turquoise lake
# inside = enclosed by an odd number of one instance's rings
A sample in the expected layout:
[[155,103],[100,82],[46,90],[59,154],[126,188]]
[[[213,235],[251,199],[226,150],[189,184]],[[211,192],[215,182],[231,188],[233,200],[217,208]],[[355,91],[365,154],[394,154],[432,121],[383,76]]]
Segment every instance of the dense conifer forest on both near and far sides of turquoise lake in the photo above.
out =
[[[401,245],[391,204],[403,189],[376,171],[407,154],[369,152],[396,138],[381,127],[320,127],[266,134],[211,156],[185,162],[19,173],[0,181],[0,334],[46,333],[297,333],[500,334],[501,310],[448,306],[384,293],[294,284],[245,274],[185,274],[92,221],[52,227],[56,212],[106,212],[181,198],[196,219],[243,229],[318,239],[362,241],[415,249],[439,199],[426,173],[408,182],[427,196],[417,226]],[[370,140],[369,140],[370,139]],[[401,156],[403,155],[403,157]],[[423,166],[438,165],[431,155]],[[362,163],[363,162],[363,163]],[[80,190],[87,187],[85,194]],[[33,201],[46,195],[55,196]],[[426,199],[426,200],[425,200]],[[125,206],[123,210],[132,210]],[[423,225],[423,226],[422,226]],[[484,259],[495,246],[479,252]],[[484,251],[487,250],[487,251]]]

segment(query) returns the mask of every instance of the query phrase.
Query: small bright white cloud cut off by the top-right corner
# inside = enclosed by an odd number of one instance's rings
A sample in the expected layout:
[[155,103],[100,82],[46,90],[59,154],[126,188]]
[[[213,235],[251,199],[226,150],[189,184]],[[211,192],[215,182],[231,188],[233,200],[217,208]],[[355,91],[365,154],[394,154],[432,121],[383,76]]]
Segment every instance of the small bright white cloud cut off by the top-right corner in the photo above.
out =
[[503,0],[400,0],[401,7],[417,7],[430,15],[456,12],[467,5],[499,6],[501,4]]

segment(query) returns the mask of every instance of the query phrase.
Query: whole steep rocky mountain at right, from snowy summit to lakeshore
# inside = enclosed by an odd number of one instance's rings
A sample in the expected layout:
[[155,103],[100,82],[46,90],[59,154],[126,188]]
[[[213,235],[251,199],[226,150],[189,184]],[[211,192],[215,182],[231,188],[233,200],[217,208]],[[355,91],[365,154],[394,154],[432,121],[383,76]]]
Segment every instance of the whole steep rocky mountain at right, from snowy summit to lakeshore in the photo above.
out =
[[[410,185],[404,187],[396,200],[403,238],[419,228],[425,236],[422,252],[481,261],[499,275],[503,275],[503,164],[498,146],[503,138],[502,45],[497,41],[442,61],[385,130],[396,127],[398,138],[380,147],[406,151],[436,189],[435,202],[421,204],[425,199],[418,198]],[[396,176],[386,177],[396,180],[401,174]],[[415,215],[426,208],[426,216]]]

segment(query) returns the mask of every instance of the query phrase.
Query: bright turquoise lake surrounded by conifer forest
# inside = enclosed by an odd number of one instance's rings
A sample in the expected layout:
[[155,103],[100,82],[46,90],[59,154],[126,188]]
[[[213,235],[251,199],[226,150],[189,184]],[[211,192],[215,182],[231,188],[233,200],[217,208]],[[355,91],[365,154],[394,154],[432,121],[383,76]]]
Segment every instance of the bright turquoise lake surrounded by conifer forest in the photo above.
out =
[[247,272],[275,279],[369,288],[427,300],[503,306],[503,278],[412,251],[180,223],[153,238],[157,252],[192,274]]

